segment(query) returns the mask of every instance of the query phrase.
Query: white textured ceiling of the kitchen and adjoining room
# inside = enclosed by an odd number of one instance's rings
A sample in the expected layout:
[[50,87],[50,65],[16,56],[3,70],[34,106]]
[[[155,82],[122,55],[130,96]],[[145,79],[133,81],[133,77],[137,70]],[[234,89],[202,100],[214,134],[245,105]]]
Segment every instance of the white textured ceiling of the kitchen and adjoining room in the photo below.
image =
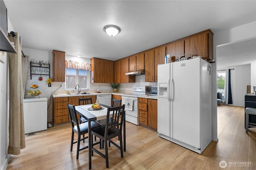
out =
[[[206,29],[216,33],[256,21],[255,0],[4,2],[12,26],[22,37],[22,47],[112,61]],[[115,37],[103,30],[110,24],[121,29]],[[255,41],[246,42],[255,47]],[[228,58],[234,49],[245,54],[241,43],[218,47],[216,54]]]

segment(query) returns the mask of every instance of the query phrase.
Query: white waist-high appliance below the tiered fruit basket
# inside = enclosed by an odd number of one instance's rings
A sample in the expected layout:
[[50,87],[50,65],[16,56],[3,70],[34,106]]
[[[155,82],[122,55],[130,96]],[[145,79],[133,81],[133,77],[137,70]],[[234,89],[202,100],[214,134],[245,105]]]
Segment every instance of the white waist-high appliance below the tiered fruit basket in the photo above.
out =
[[47,129],[47,98],[23,99],[25,134]]

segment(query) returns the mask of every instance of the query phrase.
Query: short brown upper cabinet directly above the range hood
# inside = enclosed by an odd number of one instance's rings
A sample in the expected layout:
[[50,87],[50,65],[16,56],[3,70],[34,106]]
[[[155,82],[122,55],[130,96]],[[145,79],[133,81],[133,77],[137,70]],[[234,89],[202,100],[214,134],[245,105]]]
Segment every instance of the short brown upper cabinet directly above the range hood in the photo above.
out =
[[144,69],[144,53],[129,57],[129,72]]

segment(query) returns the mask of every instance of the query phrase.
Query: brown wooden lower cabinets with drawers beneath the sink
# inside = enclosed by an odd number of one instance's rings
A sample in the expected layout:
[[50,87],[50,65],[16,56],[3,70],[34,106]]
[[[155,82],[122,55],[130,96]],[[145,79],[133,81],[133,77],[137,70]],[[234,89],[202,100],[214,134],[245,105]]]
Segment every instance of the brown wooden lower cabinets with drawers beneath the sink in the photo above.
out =
[[[54,124],[64,123],[70,121],[68,114],[67,103],[71,105],[78,106],[79,98],[92,98],[92,103],[96,102],[96,96],[72,96],[72,97],[60,97],[53,98],[52,97],[52,119]],[[79,115],[78,115],[79,117]]]

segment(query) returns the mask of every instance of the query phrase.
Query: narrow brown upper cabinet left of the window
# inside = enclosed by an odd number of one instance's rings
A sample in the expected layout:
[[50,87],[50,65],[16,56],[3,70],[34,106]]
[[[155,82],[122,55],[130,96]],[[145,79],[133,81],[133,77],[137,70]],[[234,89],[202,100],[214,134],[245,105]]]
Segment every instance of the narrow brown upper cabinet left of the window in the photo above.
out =
[[52,51],[52,72],[54,82],[65,82],[65,52]]

